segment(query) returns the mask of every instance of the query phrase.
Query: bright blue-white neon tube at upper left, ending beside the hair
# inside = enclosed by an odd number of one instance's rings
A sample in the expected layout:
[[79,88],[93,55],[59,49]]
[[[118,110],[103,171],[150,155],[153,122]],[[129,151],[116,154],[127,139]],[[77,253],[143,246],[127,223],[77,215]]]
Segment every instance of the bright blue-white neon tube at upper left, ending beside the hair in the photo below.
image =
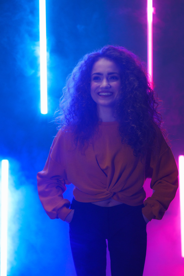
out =
[[40,107],[47,114],[47,38],[45,0],[39,0],[40,14]]

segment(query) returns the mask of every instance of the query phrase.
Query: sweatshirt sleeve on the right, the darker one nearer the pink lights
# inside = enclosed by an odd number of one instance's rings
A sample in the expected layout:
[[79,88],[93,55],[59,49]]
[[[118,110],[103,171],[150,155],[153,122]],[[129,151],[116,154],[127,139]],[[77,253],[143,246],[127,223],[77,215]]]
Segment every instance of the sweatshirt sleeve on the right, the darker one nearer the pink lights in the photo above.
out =
[[142,212],[149,220],[161,220],[178,189],[178,169],[171,148],[157,130],[155,152],[151,154],[151,197],[144,200]]

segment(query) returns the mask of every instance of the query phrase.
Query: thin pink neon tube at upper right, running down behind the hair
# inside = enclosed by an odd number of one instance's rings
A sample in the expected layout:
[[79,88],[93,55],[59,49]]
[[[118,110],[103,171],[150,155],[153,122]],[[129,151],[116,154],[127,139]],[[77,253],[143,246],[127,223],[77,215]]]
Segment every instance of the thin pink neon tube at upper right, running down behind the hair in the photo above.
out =
[[153,83],[153,1],[147,0],[147,54],[148,74],[150,75],[151,88]]

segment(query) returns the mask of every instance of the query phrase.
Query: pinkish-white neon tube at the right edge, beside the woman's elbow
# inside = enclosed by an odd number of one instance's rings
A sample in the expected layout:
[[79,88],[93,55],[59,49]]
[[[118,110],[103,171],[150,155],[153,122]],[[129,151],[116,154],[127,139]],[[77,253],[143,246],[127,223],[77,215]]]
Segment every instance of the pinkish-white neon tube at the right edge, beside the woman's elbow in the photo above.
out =
[[180,198],[180,223],[181,223],[181,248],[184,258],[184,155],[179,156],[179,198]]

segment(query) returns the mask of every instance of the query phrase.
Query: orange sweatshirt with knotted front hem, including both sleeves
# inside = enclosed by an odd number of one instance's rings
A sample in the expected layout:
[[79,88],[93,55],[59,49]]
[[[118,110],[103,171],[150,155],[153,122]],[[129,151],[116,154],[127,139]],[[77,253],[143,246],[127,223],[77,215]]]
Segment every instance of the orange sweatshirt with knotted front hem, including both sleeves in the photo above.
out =
[[[72,146],[71,132],[59,130],[43,171],[37,174],[40,201],[51,219],[65,220],[70,201],[63,199],[66,184],[73,183],[74,197],[80,202],[113,198],[137,206],[149,220],[161,220],[178,188],[178,169],[170,147],[157,129],[155,150],[142,161],[121,143],[118,122],[99,122],[84,154]],[[151,178],[154,193],[145,200],[143,188]]]

